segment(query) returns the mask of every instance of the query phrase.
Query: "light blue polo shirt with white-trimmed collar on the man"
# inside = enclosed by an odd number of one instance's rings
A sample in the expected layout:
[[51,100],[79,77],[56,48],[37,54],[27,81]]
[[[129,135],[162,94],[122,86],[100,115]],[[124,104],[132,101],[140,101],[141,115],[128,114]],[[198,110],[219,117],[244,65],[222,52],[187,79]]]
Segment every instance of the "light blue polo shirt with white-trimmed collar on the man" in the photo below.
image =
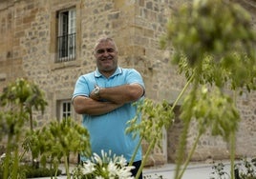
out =
[[[117,68],[116,72],[109,78],[104,77],[96,70],[78,78],[73,99],[78,95],[88,97],[95,89],[95,85],[100,88],[111,88],[135,83],[141,85],[144,89],[142,77],[137,70]],[[90,132],[92,151],[101,156],[102,149],[107,153],[111,150],[112,154],[123,155],[129,162],[139,143],[139,136],[133,139],[131,133],[125,133],[125,129],[127,128],[127,121],[133,119],[136,115],[137,106],[134,103],[127,103],[104,115],[83,114],[83,126]],[[138,122],[140,120],[139,115]],[[141,160],[141,156],[140,146],[134,162]],[[85,160],[85,158],[81,157],[81,160]]]

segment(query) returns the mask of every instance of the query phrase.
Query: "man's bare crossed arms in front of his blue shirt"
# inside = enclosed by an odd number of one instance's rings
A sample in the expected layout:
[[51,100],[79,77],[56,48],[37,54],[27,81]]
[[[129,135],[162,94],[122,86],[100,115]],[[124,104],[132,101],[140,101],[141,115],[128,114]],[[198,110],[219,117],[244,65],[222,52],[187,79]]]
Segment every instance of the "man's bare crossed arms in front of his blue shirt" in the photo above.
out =
[[[137,101],[144,93],[139,84],[122,85],[113,88],[100,89],[99,96],[94,90],[89,97],[76,96],[73,100],[75,112],[79,114],[101,115],[117,109],[125,103]],[[102,102],[104,99],[107,102]]]

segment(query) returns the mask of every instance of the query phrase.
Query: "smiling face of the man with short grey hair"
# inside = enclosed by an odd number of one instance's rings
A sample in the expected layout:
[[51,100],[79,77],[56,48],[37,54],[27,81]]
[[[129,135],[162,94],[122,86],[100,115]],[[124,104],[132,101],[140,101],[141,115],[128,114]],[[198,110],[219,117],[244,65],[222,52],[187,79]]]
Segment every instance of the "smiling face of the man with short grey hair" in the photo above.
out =
[[112,41],[101,41],[95,49],[96,67],[103,74],[117,70],[117,49]]

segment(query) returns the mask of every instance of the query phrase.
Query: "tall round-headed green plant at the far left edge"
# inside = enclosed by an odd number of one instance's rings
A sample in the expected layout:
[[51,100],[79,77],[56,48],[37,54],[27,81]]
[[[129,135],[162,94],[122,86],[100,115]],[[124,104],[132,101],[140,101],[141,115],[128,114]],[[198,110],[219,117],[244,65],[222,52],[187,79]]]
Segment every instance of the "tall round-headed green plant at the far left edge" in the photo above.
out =
[[1,135],[7,135],[4,179],[7,179],[9,175],[11,178],[16,178],[18,175],[20,160],[18,144],[23,134],[24,124],[28,119],[31,120],[32,129],[32,108],[43,112],[46,105],[42,91],[23,78],[17,79],[3,89],[0,95],[0,106],[3,108],[0,112],[0,128]]

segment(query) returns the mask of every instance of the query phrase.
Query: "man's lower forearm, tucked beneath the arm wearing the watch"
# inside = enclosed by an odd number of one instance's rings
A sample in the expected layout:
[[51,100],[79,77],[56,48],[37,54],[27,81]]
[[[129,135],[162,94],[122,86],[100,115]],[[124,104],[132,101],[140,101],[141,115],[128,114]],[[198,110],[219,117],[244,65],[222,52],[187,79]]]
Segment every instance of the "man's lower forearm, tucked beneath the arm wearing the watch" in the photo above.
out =
[[84,96],[77,96],[74,99],[74,109],[79,114],[101,115],[121,106],[122,104],[100,102]]

